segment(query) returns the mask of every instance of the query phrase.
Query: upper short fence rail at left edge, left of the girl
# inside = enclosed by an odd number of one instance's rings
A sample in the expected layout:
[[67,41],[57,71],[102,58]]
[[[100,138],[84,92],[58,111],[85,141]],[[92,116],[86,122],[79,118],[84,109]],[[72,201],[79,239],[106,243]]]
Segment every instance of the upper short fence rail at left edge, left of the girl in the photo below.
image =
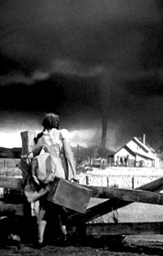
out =
[[0,176],[0,188],[12,188],[15,190],[22,189],[22,179]]

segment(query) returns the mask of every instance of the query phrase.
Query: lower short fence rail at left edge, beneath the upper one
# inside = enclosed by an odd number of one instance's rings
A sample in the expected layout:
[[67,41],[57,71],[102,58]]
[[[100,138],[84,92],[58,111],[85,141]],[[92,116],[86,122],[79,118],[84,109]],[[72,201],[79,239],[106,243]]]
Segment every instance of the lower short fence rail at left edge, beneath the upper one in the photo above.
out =
[[24,216],[23,204],[0,204],[0,214],[6,215],[12,213],[13,215]]

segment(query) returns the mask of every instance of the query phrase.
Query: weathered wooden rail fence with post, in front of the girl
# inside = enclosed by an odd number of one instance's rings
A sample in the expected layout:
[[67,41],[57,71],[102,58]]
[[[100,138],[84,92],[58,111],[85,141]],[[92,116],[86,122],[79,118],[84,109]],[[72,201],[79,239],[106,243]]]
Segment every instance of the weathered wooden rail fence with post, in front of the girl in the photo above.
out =
[[[22,133],[22,154],[27,154],[33,146],[33,138],[35,134],[32,132]],[[1,176],[0,187],[14,190],[22,194],[24,179],[28,174],[28,167],[22,161],[21,163],[22,178],[15,176]],[[88,179],[88,178],[87,178]],[[89,181],[87,181],[89,183]],[[133,183],[133,181],[131,181]],[[96,223],[88,224],[90,220],[94,220],[106,213],[110,213],[115,209],[131,204],[132,202],[145,202],[148,204],[163,205],[163,194],[159,193],[163,189],[163,177],[155,179],[149,183],[139,186],[135,189],[110,188],[110,181],[106,179],[107,186],[88,186],[92,189],[92,197],[107,199],[96,206],[92,206],[85,213],[77,213],[67,211],[67,227],[71,233],[81,232],[87,236],[94,235],[110,235],[110,234],[163,234],[163,223]],[[15,198],[15,197],[14,197]],[[16,203],[8,201],[0,204],[0,213],[10,211],[16,215],[26,214],[24,211],[24,200]],[[163,206],[162,206],[163,207]],[[139,213],[137,213],[139,214]],[[80,226],[80,229],[78,229]]]

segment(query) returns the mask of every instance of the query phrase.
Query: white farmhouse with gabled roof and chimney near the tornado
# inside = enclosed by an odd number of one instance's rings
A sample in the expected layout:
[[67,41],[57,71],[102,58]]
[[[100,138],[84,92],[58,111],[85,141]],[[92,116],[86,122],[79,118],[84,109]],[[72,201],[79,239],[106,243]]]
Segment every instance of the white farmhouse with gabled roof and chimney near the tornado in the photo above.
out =
[[155,155],[155,150],[146,143],[146,135],[143,135],[142,139],[133,137],[128,144],[109,156],[109,163],[115,166],[157,168],[159,158]]

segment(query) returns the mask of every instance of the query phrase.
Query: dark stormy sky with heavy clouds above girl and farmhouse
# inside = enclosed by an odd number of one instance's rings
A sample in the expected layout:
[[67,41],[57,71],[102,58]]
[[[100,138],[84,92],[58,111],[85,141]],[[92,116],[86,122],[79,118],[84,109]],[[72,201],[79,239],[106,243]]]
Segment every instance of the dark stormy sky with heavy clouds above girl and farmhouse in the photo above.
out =
[[74,142],[100,144],[105,114],[108,148],[143,133],[161,143],[162,1],[0,5],[1,133],[40,129],[44,112],[57,112]]

